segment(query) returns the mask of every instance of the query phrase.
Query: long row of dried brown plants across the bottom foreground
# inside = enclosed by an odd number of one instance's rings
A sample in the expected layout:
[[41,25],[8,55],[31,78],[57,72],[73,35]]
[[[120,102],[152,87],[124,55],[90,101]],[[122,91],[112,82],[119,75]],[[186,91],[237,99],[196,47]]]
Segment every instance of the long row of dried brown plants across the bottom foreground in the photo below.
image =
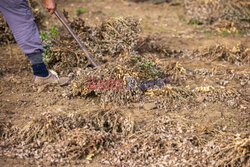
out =
[[249,163],[249,135],[223,133],[177,115],[131,121],[118,110],[46,112],[0,141],[2,155],[43,165],[100,161],[116,166]]

